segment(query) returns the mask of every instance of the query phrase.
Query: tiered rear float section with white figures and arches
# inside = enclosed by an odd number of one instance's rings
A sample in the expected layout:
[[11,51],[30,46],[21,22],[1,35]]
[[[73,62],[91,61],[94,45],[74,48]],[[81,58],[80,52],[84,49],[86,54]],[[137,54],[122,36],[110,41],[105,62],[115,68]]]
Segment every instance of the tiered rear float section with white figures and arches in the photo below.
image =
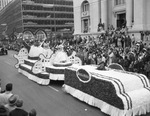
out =
[[[34,34],[30,31],[23,33],[23,41],[34,41]],[[53,53],[48,48],[49,43],[45,43],[46,34],[44,31],[37,31],[36,38],[40,38],[42,46],[30,46],[30,49],[22,48],[14,57],[17,59],[15,67],[18,72],[27,76],[30,80],[41,84],[49,85],[50,80],[64,81],[64,70],[72,64],[81,65],[80,58],[75,56],[75,52],[68,56],[63,50],[63,45],[57,46],[57,51]],[[37,41],[37,40],[36,40]]]

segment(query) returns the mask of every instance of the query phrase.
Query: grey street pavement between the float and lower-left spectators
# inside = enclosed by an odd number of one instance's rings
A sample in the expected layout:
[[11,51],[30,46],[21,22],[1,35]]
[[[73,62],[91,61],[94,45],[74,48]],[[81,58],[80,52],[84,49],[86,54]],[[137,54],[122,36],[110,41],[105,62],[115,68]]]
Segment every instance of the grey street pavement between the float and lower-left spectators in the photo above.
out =
[[63,92],[63,82],[52,81],[49,86],[41,86],[19,74],[14,67],[17,63],[13,58],[15,53],[9,51],[8,55],[0,56],[1,86],[4,90],[7,83],[13,83],[13,93],[23,99],[26,111],[35,108],[37,116],[108,116]]

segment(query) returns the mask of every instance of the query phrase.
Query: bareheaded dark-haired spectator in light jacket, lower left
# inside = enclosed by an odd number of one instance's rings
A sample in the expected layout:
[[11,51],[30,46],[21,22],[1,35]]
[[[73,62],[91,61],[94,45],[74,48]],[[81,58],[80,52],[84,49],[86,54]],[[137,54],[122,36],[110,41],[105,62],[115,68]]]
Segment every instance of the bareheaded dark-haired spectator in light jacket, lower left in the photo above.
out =
[[5,91],[0,93],[0,104],[5,105],[8,103],[8,99],[13,95],[12,93],[13,84],[6,84]]

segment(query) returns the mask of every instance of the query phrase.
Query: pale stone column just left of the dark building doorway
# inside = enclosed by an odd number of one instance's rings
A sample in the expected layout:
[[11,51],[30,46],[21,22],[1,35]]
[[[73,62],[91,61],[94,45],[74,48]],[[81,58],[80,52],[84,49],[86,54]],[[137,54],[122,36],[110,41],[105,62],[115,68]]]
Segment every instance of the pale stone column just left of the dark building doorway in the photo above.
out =
[[107,0],[101,0],[101,23],[104,23],[104,28],[107,29]]

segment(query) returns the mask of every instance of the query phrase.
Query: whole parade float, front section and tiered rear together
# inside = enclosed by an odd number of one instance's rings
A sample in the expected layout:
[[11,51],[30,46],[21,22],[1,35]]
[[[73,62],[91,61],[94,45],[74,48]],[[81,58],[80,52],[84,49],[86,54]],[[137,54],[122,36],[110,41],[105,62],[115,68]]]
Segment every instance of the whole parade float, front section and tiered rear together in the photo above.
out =
[[14,55],[18,60],[15,67],[40,85],[48,85],[50,80],[63,80],[66,93],[111,116],[136,116],[150,112],[150,83],[143,74],[127,72],[119,65],[117,68],[110,65],[105,70],[81,65],[76,53],[67,56],[62,45],[49,57],[43,52],[38,59],[31,59],[29,53],[22,48]]

